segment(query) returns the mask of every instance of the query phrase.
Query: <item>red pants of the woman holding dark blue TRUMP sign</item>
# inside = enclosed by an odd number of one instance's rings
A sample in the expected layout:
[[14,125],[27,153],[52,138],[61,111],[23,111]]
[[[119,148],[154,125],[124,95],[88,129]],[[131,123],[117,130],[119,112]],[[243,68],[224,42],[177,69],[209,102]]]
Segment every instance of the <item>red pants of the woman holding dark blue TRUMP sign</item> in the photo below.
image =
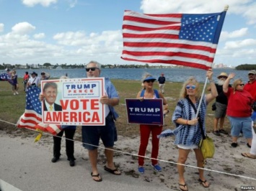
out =
[[[146,147],[149,143],[149,136],[152,133],[152,151],[151,151],[151,164],[156,165],[158,151],[159,151],[159,139],[157,135],[161,134],[163,126],[155,126],[155,125],[140,125],[141,131],[141,144],[140,148],[138,149],[138,155],[145,156],[146,154]],[[138,157],[138,166],[144,165],[144,157]]]

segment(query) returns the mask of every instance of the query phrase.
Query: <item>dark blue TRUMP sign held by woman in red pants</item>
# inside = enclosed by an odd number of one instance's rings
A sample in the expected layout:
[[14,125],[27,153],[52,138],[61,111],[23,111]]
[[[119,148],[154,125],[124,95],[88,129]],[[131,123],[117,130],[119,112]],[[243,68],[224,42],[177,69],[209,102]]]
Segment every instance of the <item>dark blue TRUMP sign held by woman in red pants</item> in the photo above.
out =
[[164,125],[162,99],[125,99],[128,124]]

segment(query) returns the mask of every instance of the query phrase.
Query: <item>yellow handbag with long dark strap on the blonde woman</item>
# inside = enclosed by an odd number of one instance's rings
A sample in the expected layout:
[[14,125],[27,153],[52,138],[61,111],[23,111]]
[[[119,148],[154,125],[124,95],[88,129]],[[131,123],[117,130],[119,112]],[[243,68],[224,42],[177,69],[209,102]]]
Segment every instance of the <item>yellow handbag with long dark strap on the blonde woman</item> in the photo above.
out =
[[[189,101],[190,105],[193,107],[193,109],[196,113],[197,112],[196,108],[195,108],[194,104],[192,103],[192,101],[190,100],[190,98],[187,97],[187,101]],[[198,123],[199,123],[201,134],[203,136],[203,138],[200,140],[200,144],[199,144],[200,151],[203,154],[203,159],[213,158],[213,155],[215,153],[215,146],[213,143],[213,139],[211,139],[210,137],[208,137],[207,135],[204,134],[203,124],[202,124],[202,121],[200,121],[200,118],[198,120]]]

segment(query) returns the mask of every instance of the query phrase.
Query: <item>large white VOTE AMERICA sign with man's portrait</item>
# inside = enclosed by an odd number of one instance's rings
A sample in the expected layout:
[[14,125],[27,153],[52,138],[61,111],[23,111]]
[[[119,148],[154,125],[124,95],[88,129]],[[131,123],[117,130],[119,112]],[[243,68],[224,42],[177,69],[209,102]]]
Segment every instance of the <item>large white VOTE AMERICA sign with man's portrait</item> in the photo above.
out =
[[105,126],[105,78],[42,80],[44,124]]

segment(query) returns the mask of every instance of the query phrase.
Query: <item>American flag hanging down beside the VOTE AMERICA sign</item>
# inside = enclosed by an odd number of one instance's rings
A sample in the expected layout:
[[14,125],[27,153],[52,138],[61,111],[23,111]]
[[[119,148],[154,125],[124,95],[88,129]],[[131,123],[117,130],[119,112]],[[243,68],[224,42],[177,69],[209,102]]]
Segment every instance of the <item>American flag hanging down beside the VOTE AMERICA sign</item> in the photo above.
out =
[[26,95],[25,113],[17,121],[17,127],[28,129],[40,129],[56,135],[61,131],[61,126],[42,123],[42,103],[39,100],[40,88],[29,87]]

